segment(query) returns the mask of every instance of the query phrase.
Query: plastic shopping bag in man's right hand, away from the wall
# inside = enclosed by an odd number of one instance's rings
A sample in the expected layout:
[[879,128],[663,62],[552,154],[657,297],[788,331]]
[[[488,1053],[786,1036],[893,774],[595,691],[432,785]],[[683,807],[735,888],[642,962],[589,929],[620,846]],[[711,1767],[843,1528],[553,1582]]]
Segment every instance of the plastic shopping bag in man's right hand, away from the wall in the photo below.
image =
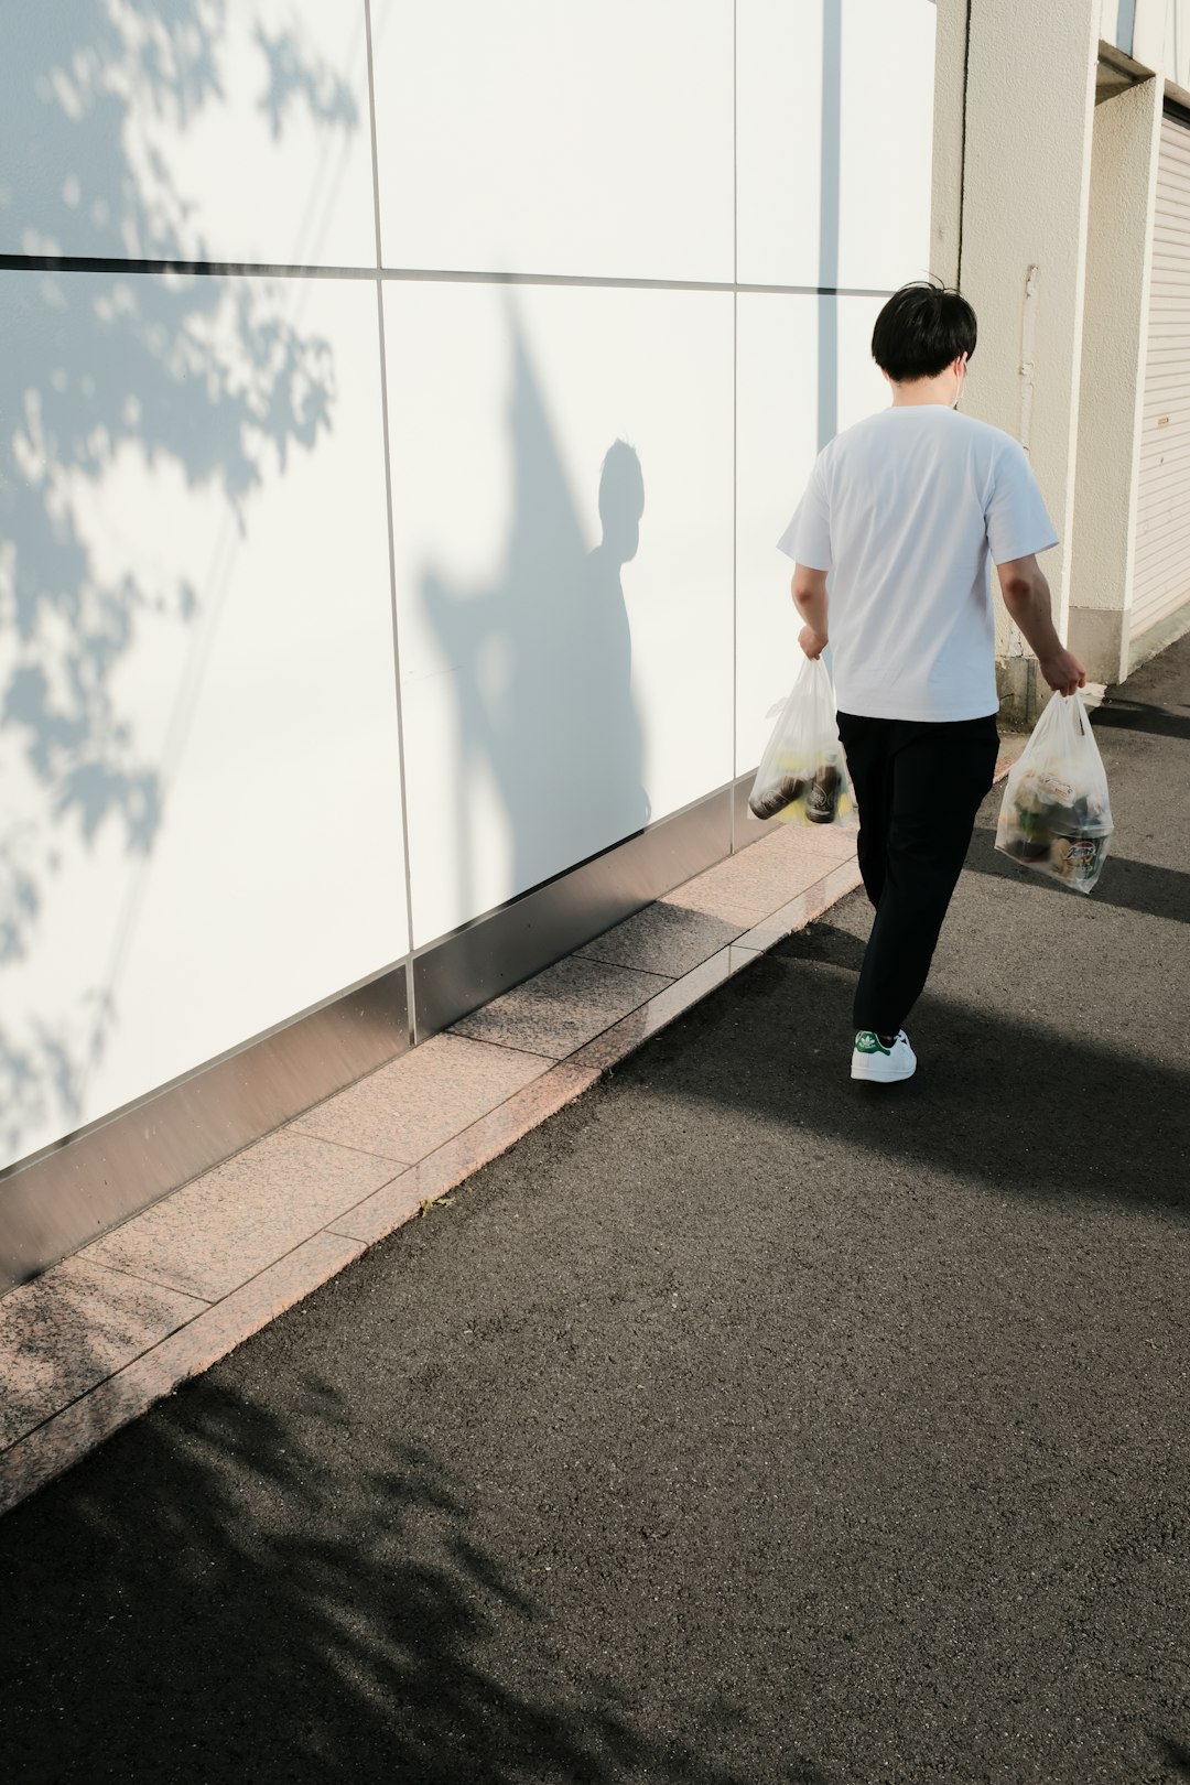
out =
[[1090,892],[1111,837],[1108,776],[1087,707],[1054,694],[1004,787],[996,848]]

